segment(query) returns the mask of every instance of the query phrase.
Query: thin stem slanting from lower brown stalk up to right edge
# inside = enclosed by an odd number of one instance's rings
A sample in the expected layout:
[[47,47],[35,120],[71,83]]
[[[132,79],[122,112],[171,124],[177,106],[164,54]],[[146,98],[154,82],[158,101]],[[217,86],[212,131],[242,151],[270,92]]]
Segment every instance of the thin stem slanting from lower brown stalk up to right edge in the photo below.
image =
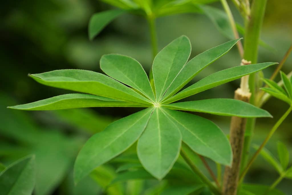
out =
[[263,143],[260,145],[259,149],[256,151],[256,153],[253,155],[251,160],[248,162],[247,166],[245,167],[244,171],[242,172],[239,181],[241,182],[246,175],[248,169],[251,167],[251,164],[253,161],[255,161],[256,157],[259,155],[260,151],[264,148],[264,146],[267,144],[267,142],[270,140],[274,132],[278,129],[278,127],[281,125],[281,123],[286,119],[286,117],[291,113],[292,111],[292,105],[289,107],[289,109],[281,116],[281,118],[276,122],[276,124],[272,127],[269,134],[263,141]]

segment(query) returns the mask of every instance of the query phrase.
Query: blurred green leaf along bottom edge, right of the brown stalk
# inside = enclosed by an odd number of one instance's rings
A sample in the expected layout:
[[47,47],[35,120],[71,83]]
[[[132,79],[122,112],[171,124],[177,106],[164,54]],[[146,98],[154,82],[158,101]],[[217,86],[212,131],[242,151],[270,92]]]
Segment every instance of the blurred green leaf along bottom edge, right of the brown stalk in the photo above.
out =
[[[239,195],[260,195],[265,193],[269,188],[270,186],[265,185],[243,184],[239,190]],[[272,189],[267,195],[284,195],[284,193],[277,189]]]

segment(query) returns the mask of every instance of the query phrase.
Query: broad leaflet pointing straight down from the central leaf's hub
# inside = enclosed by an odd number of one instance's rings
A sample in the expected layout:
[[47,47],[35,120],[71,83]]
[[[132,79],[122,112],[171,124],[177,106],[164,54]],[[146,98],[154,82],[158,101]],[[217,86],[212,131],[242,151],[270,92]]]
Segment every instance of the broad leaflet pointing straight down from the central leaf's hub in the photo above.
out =
[[137,153],[143,167],[161,180],[180,153],[181,134],[169,118],[156,108],[138,140]]

